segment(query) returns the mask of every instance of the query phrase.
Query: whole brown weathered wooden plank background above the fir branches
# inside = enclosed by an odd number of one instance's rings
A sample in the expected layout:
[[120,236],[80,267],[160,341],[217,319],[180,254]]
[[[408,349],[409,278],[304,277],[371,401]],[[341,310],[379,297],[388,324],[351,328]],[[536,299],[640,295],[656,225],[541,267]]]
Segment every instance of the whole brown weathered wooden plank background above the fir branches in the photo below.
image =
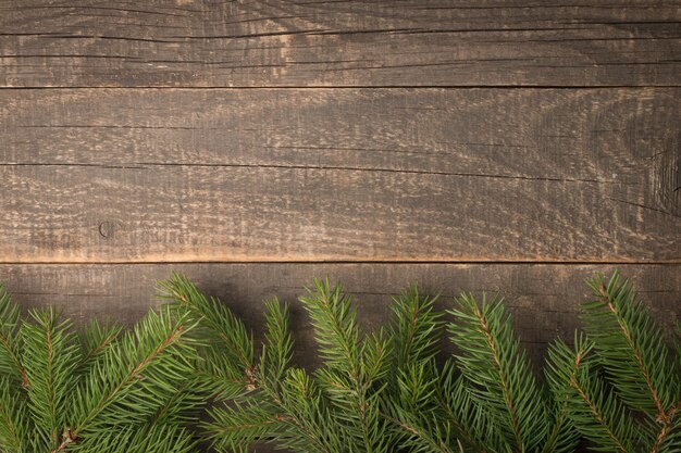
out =
[[0,0],[0,281],[133,323],[178,270],[257,326],[329,275],[369,328],[498,290],[538,361],[619,268],[669,325],[681,2],[568,3]]

